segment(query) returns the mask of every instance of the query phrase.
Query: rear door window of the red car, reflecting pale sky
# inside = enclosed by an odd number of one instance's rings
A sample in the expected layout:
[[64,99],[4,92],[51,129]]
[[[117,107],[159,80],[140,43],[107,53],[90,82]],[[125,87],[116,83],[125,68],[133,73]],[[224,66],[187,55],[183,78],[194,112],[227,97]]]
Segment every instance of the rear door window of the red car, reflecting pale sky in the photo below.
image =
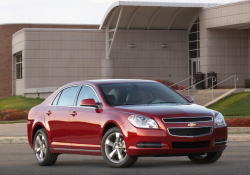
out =
[[72,106],[79,86],[64,89],[58,101],[58,106]]

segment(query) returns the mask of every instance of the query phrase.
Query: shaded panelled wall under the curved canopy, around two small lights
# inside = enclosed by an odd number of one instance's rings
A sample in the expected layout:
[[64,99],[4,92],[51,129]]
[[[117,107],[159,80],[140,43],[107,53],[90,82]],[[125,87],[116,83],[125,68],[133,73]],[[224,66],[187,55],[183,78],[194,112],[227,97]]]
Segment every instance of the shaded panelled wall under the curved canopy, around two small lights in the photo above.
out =
[[[164,79],[173,82],[188,77],[186,31],[118,30],[111,59],[114,78]],[[135,44],[135,48],[129,48]],[[168,48],[162,48],[168,44]],[[187,85],[184,82],[182,85]]]

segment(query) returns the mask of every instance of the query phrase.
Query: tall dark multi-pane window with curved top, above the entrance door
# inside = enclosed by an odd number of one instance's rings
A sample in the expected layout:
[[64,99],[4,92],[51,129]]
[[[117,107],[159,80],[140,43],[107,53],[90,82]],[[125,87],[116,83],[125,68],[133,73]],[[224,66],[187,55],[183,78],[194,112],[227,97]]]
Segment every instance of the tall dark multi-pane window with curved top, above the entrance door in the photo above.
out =
[[200,58],[199,18],[194,22],[189,33],[189,58]]

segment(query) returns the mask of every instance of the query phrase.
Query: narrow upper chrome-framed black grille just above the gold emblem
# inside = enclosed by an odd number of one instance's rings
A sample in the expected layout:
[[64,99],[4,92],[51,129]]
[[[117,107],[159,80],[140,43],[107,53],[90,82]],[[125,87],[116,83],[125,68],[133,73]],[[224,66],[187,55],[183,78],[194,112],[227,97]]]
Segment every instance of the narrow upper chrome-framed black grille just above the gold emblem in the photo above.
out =
[[164,118],[164,123],[189,123],[189,122],[209,122],[213,121],[212,117],[181,117],[181,118]]

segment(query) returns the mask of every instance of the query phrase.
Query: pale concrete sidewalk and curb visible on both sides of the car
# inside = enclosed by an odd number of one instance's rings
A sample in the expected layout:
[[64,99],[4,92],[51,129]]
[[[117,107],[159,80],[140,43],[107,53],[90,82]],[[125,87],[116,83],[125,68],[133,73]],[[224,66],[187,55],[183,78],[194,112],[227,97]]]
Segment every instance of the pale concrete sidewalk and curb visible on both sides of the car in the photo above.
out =
[[[250,142],[250,127],[230,127],[228,132],[228,141]],[[27,124],[0,124],[0,143],[28,143]]]

